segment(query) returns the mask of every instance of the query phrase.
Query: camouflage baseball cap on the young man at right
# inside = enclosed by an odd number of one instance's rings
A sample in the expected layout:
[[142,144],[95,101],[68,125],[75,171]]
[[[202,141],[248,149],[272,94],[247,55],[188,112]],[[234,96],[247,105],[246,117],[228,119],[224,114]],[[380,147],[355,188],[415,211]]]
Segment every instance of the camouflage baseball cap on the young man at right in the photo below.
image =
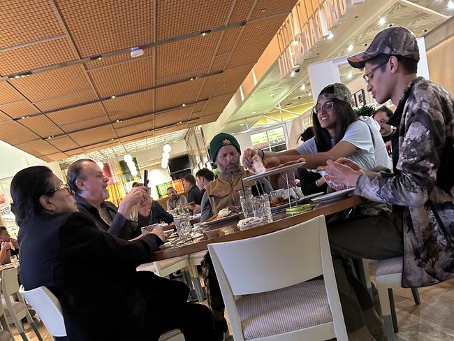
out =
[[419,48],[416,37],[405,27],[383,29],[375,36],[367,50],[351,56],[347,60],[353,68],[364,68],[367,60],[381,53],[419,61]]

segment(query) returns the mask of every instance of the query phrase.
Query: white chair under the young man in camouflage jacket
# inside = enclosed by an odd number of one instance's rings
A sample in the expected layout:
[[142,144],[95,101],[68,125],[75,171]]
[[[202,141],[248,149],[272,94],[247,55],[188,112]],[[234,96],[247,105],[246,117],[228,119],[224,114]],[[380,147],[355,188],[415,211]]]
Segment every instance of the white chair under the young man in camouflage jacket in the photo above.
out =
[[[394,341],[394,333],[399,331],[394,306],[393,288],[402,288],[403,264],[403,257],[382,259],[376,264],[376,289],[379,291],[381,314],[383,314],[383,323],[385,324],[388,341]],[[420,304],[418,289],[411,288],[411,293],[413,293],[415,303],[417,305]]]

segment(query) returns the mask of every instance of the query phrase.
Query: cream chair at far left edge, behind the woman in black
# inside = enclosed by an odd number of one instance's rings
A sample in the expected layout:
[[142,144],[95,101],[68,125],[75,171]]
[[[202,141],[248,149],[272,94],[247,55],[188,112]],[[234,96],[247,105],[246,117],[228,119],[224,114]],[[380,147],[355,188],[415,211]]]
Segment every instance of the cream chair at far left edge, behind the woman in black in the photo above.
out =
[[[13,323],[20,336],[24,341],[28,341],[22,325],[22,319],[25,317],[33,328],[38,340],[43,341],[41,334],[36,328],[33,319],[30,316],[24,298],[19,293],[19,281],[17,280],[17,268],[3,270],[1,273],[1,291],[3,291],[3,298],[6,303],[6,321],[9,324]],[[13,297],[15,299],[13,299]],[[8,316],[9,315],[9,316]]]

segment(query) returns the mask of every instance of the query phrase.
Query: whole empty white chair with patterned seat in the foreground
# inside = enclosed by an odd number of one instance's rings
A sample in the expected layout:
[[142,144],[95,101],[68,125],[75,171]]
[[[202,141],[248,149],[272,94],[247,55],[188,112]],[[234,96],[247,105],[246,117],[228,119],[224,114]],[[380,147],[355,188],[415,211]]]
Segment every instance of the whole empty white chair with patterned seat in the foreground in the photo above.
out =
[[323,216],[208,250],[235,341],[348,340]]

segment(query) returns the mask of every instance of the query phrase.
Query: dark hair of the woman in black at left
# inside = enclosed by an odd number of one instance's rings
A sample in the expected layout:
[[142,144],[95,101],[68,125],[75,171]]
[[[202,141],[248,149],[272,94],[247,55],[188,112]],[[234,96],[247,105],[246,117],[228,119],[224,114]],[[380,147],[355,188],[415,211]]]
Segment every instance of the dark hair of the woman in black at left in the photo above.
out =
[[32,166],[20,170],[11,181],[10,193],[13,198],[11,211],[17,225],[44,212],[39,202],[42,195],[52,191],[52,170],[45,166]]

